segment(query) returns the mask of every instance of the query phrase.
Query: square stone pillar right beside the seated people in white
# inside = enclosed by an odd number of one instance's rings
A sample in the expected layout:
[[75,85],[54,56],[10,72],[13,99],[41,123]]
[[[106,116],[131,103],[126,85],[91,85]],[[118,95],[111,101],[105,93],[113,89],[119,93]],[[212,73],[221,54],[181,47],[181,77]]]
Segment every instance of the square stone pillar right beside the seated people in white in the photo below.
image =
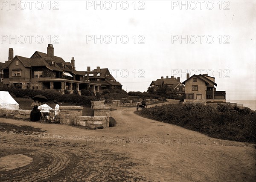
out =
[[61,106],[60,107],[60,123],[74,124],[76,116],[83,115],[83,108],[81,106]]

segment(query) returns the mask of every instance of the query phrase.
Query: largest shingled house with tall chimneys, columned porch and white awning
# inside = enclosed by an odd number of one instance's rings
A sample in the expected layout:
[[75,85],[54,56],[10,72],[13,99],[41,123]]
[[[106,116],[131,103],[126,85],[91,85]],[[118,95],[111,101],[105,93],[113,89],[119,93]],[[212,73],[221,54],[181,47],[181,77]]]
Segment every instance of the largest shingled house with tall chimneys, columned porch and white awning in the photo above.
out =
[[82,89],[99,92],[102,84],[90,82],[83,72],[76,71],[75,60],[65,62],[54,55],[52,44],[47,47],[47,53],[36,51],[30,58],[16,55],[9,49],[8,61],[2,66],[3,84],[22,84],[22,88],[52,89],[81,91]]

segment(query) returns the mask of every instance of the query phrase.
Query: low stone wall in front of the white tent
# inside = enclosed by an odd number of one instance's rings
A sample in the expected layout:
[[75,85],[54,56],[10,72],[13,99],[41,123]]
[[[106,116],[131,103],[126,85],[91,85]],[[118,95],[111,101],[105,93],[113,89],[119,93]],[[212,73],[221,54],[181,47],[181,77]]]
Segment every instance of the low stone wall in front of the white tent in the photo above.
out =
[[30,119],[31,110],[7,110],[0,109],[0,116],[6,118]]

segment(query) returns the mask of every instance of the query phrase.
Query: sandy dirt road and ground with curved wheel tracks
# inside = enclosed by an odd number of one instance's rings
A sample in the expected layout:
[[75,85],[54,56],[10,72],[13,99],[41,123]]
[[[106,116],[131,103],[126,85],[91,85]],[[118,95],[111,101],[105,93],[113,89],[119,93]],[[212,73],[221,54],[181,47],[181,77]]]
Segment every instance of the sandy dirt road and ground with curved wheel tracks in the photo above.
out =
[[111,111],[116,127],[98,130],[0,118],[42,130],[0,132],[0,180],[256,181],[254,144],[213,139],[134,111]]

